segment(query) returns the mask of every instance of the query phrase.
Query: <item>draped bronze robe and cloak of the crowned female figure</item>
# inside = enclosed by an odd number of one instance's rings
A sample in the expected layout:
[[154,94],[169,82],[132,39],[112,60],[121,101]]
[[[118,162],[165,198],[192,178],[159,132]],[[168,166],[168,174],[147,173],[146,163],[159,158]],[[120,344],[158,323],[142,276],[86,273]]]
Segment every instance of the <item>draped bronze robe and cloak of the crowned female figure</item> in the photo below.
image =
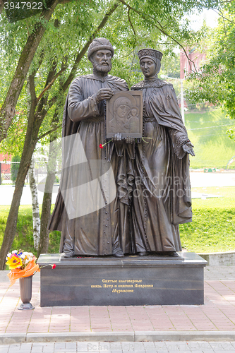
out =
[[181,251],[179,223],[191,222],[188,135],[174,88],[144,80],[143,138],[135,150],[132,204],[135,252]]

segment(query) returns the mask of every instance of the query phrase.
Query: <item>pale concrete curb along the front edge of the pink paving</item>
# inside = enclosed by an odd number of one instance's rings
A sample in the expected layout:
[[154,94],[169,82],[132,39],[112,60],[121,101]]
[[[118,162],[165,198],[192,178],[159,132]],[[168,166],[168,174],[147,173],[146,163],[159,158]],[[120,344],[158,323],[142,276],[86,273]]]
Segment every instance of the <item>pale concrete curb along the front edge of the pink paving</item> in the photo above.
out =
[[11,345],[25,342],[157,342],[157,341],[235,341],[234,331],[146,331],[127,333],[3,333],[0,345]]

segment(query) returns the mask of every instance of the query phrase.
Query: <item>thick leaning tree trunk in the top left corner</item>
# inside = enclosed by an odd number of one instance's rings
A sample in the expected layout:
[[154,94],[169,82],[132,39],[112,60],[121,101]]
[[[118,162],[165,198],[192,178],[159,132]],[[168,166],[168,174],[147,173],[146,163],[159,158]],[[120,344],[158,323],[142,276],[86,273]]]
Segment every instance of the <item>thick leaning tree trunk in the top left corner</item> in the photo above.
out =
[[1,107],[0,111],[0,142],[7,136],[7,131],[11,125],[11,121],[16,112],[16,104],[18,102],[18,97],[23,88],[25,78],[28,74],[30,64],[35,56],[40,41],[46,30],[46,25],[49,19],[52,17],[52,13],[56,8],[58,0],[52,2],[52,6],[48,10],[42,11],[40,15],[40,22],[37,22],[34,30],[32,30],[31,35],[23,48],[20,59],[18,61],[18,66],[16,68],[13,79],[11,80],[11,85],[6,94],[6,99]]

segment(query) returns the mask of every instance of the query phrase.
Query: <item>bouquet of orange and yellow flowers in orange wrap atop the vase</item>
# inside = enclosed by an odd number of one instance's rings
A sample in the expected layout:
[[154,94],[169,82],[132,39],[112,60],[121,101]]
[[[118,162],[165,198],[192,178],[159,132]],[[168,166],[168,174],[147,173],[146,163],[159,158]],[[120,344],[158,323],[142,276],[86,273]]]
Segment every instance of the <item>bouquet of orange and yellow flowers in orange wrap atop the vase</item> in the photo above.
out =
[[9,266],[11,272],[8,273],[11,285],[13,285],[18,278],[29,277],[35,274],[35,272],[40,271],[39,265],[35,263],[37,258],[33,253],[28,253],[27,251],[11,251],[6,256],[6,265]]

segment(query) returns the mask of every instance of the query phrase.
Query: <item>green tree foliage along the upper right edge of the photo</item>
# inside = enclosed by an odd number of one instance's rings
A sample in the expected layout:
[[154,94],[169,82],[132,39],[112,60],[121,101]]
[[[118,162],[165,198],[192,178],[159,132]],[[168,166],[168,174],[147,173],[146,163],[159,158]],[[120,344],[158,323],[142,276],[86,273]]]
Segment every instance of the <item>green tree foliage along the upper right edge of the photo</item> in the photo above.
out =
[[[195,83],[187,96],[192,102],[211,102],[235,119],[235,3],[225,2],[215,30],[205,32],[207,63],[189,77]],[[209,37],[209,40],[208,40]],[[234,138],[234,129],[229,132]]]

